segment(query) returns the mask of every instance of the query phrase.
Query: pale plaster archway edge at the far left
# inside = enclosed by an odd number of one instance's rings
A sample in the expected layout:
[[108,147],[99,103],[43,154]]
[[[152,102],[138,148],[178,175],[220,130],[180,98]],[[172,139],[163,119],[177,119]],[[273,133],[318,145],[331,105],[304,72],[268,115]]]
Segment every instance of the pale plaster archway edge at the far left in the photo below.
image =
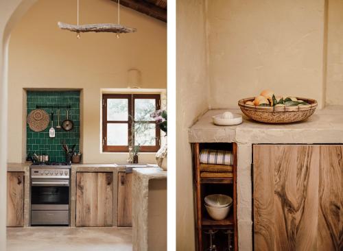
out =
[[12,29],[36,0],[0,2],[0,250],[6,250],[8,43]]

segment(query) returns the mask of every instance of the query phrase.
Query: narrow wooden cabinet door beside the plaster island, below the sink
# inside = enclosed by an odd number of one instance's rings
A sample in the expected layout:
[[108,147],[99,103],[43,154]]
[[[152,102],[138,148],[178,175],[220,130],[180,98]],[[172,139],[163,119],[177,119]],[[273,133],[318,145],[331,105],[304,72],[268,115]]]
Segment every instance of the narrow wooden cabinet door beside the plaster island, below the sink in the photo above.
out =
[[118,226],[132,226],[132,173],[118,173]]

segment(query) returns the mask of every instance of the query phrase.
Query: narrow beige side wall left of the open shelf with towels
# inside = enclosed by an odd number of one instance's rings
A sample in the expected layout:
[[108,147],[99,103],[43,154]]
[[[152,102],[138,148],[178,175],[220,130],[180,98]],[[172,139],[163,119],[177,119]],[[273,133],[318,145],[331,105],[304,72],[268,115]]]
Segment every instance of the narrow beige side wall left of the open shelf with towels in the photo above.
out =
[[209,106],[205,1],[177,1],[176,20],[176,241],[195,250],[193,182],[188,128]]

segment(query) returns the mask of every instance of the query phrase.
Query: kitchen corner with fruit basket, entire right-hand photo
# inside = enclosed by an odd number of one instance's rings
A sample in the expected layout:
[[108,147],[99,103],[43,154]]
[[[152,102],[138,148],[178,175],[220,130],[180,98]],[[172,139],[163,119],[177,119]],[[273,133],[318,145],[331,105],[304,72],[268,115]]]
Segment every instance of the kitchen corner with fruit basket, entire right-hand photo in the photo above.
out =
[[343,1],[176,12],[176,249],[342,250]]

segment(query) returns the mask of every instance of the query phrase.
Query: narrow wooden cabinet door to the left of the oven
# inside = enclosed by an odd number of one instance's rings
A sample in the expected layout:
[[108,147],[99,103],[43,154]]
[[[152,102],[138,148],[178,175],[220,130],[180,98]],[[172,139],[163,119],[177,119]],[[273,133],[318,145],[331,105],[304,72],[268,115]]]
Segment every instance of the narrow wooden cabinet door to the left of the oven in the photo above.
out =
[[7,226],[24,226],[24,172],[8,172],[7,188]]

